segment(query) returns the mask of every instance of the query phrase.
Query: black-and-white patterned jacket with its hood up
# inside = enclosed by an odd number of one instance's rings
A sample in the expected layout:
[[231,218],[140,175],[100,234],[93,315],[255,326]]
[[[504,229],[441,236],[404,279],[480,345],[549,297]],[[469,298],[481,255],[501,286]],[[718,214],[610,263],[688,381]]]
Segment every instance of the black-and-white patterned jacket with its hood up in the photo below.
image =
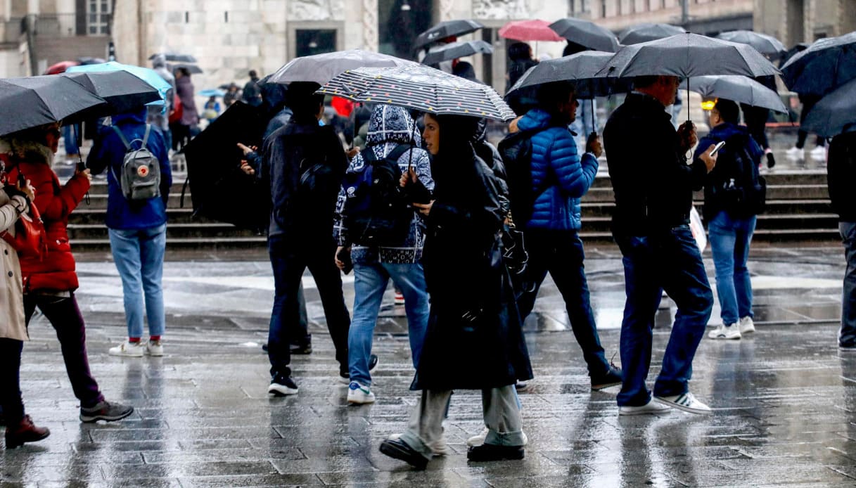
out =
[[[433,191],[434,180],[431,179],[431,161],[424,149],[415,146],[419,144],[419,140],[416,124],[407,110],[392,105],[378,104],[372,111],[369,131],[366,136],[366,147],[363,152],[373,151],[377,159],[383,159],[395,149],[395,146],[400,144],[414,145],[412,151],[404,152],[401,158],[398,158],[398,167],[403,173],[412,164],[419,181]],[[360,171],[365,164],[363,155],[360,153],[348,164],[348,172]],[[336,216],[333,225],[333,235],[340,246],[348,244],[348,229],[345,227],[342,217],[346,199],[345,187],[342,187],[339,190],[339,198],[336,200]],[[419,213],[413,211],[410,232],[407,234],[407,239],[401,242],[401,246],[375,248],[354,245],[351,248],[351,259],[358,263],[365,263],[373,259],[389,264],[418,263],[422,259],[424,244],[425,223],[419,217]]]

